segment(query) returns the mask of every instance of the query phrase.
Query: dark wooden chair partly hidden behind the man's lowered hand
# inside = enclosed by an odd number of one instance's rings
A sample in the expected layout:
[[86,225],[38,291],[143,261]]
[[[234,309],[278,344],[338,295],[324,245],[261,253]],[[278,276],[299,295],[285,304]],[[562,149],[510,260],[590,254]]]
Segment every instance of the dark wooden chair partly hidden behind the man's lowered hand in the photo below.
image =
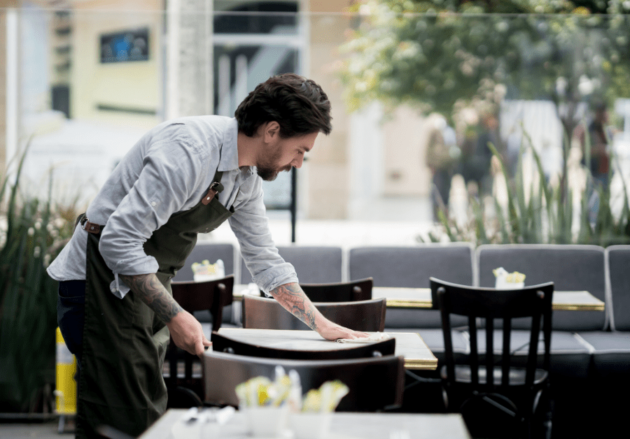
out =
[[[208,310],[212,316],[212,330],[218,331],[223,321],[223,307],[232,303],[234,275],[207,282],[172,282],[173,298],[193,314]],[[204,384],[199,357],[177,347],[171,338],[166,362],[169,375],[165,377],[169,391],[169,408],[189,408],[202,405]],[[183,366],[183,376],[181,367]],[[195,373],[196,372],[196,373]]]

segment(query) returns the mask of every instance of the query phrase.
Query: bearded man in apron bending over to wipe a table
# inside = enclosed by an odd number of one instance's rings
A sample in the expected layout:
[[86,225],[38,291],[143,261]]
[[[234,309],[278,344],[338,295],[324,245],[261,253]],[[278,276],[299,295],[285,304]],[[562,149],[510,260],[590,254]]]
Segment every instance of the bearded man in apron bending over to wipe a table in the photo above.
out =
[[262,203],[262,180],[300,168],[318,133],[330,133],[328,96],[287,73],[258,85],[235,116],[184,117],[148,131],[48,268],[59,280],[59,328],[80,361],[78,438],[97,436],[99,425],[138,436],[165,411],[169,333],[191,354],[211,345],[172,298],[170,280],[197,233],[226,219],[263,291],[323,338],[366,336],[325,319],[304,296]]

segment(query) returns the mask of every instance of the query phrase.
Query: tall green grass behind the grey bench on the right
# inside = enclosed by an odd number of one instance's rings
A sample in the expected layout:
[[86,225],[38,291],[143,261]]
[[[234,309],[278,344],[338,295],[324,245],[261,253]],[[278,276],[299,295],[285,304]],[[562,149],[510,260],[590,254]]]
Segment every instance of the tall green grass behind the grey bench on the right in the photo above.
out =
[[[508,178],[505,164],[496,148],[489,144],[494,157],[500,163],[503,178],[507,187],[507,203],[501,204],[497,199],[491,201],[492,206],[485,206],[484,201],[475,198],[469,200],[470,213],[464,224],[447,217],[442,210],[438,213],[440,229],[428,233],[428,238],[419,237],[421,241],[439,242],[444,234],[451,241],[468,241],[475,245],[510,244],[510,243],[549,243],[549,244],[594,244],[606,247],[613,244],[630,243],[630,208],[626,182],[623,181],[623,206],[620,215],[615,218],[611,210],[610,184],[603,188],[593,181],[588,162],[590,158],[590,142],[587,136],[585,158],[587,165],[587,185],[579,195],[579,221],[573,224],[573,191],[568,185],[566,166],[559,175],[559,185],[552,185],[545,179],[542,163],[531,139],[526,137],[527,144],[521,145],[517,171],[512,179]],[[568,157],[568,139],[564,144],[566,150],[563,157]],[[531,152],[537,169],[536,184],[526,185],[524,181],[525,152]],[[614,161],[617,163],[617,161]],[[618,170],[621,171],[621,170]],[[608,181],[612,180],[612,166]],[[598,194],[599,207],[596,217],[591,218],[589,196],[592,191]],[[491,207],[491,208],[489,208]],[[490,213],[489,213],[490,212]]]

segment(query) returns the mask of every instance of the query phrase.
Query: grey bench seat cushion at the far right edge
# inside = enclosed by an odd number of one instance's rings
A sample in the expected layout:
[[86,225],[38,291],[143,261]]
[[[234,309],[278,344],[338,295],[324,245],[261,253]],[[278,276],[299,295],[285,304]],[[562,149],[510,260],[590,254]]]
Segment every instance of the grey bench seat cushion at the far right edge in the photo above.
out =
[[589,331],[577,335],[593,347],[596,375],[630,374],[630,331]]

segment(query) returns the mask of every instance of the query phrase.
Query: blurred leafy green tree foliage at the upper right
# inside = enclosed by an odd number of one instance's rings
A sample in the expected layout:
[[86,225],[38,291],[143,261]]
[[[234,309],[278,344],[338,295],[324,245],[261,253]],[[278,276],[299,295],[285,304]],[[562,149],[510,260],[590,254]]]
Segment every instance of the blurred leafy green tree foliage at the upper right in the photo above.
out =
[[578,102],[630,96],[629,3],[607,2],[607,15],[595,14],[601,2],[576,3],[360,1],[342,48],[346,103],[406,103],[456,120],[463,108],[495,113],[506,95],[551,99],[570,134]]

